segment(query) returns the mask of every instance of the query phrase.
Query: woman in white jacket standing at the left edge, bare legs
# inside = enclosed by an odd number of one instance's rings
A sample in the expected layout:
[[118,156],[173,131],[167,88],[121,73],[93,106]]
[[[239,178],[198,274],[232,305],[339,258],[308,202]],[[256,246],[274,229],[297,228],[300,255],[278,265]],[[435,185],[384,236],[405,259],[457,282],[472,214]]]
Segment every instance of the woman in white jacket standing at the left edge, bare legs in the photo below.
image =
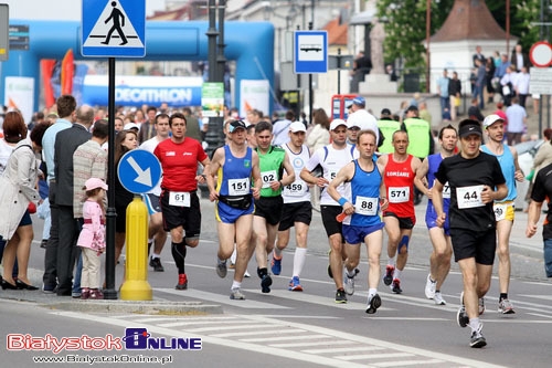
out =
[[[29,203],[36,204],[41,198],[36,191],[39,159],[42,150],[42,137],[46,124],[39,124],[26,138],[26,128],[21,132],[21,140],[11,154],[4,172],[0,178],[0,236],[8,244],[3,250],[2,290],[38,290],[31,285],[26,269],[33,238]],[[12,270],[18,256],[18,280],[13,281]]]

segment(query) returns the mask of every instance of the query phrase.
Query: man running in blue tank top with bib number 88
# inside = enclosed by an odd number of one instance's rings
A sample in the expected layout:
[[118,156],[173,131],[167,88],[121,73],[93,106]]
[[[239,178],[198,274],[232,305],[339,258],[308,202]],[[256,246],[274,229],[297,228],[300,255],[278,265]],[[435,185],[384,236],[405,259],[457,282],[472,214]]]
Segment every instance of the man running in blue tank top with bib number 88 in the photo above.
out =
[[[354,293],[355,267],[360,262],[360,243],[367,244],[368,306],[365,312],[373,314],[381,306],[378,294],[380,280],[380,255],[383,244],[383,222],[380,210],[388,207],[385,186],[382,179],[383,166],[373,160],[376,138],[373,130],[361,130],[357,149],[360,157],[347,164],[328,186],[328,194],[342,208],[348,217],[343,220],[343,238],[346,240],[344,288],[349,295]],[[338,187],[350,182],[350,198],[341,197]],[[381,201],[381,209],[380,209]]]

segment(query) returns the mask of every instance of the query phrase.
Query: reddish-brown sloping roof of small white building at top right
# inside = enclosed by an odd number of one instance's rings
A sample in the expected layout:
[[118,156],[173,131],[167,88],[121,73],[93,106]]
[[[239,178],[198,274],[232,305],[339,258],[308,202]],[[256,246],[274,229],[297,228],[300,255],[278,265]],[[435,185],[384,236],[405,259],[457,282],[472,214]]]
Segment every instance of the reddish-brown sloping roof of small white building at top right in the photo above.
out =
[[506,40],[506,32],[498,25],[482,0],[456,0],[443,27],[431,42],[459,40]]

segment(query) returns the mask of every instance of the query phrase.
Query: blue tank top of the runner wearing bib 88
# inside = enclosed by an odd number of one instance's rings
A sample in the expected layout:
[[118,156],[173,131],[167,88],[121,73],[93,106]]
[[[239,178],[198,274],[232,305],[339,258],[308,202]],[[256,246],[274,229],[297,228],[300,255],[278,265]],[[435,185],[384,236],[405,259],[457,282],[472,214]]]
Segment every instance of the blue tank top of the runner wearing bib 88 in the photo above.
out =
[[362,170],[358,160],[354,160],[354,175],[351,179],[351,203],[354,213],[347,217],[344,224],[353,227],[373,227],[381,223],[380,218],[380,185],[383,180],[373,164],[372,171]]

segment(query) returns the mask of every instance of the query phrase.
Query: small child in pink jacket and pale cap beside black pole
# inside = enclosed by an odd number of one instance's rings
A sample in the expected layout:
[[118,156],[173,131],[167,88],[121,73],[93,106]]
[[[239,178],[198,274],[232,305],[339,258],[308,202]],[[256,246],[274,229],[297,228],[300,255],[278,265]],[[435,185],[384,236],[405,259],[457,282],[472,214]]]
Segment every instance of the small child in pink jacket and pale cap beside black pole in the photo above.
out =
[[104,198],[107,185],[98,178],[86,180],[86,201],[83,204],[84,224],[78,235],[77,245],[83,254],[83,273],[81,276],[81,298],[103,299],[99,291],[100,255],[105,251],[105,214]]

